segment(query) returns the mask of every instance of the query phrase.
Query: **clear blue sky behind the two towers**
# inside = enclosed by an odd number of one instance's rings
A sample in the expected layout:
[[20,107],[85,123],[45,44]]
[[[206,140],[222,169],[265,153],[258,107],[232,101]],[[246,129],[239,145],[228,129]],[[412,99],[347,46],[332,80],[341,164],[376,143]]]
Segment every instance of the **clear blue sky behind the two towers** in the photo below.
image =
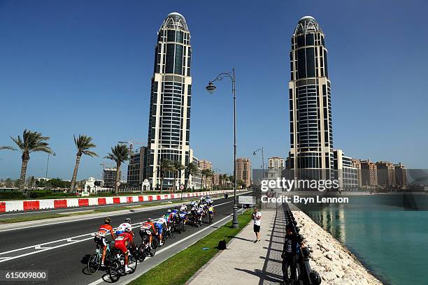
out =
[[[192,34],[194,154],[231,172],[232,97],[208,80],[236,68],[238,156],[287,156],[290,37],[313,15],[326,34],[334,147],[346,155],[427,168],[426,1],[0,1],[0,145],[24,129],[50,136],[50,176],[70,179],[73,133],[94,138],[78,179],[99,177],[118,140],[146,142],[157,30],[182,13]],[[45,175],[33,154],[28,175]],[[106,161],[109,162],[109,161]],[[20,154],[0,152],[0,177]]]

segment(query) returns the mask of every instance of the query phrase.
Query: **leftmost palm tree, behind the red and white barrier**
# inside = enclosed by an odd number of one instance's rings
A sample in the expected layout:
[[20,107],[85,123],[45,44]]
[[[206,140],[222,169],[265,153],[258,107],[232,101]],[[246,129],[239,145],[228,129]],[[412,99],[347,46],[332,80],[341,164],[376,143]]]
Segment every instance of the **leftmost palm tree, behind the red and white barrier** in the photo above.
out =
[[20,190],[24,190],[25,176],[27,175],[27,165],[30,159],[29,154],[31,152],[46,152],[48,154],[52,154],[52,149],[49,147],[49,143],[45,142],[45,140],[49,140],[49,137],[42,136],[41,133],[37,131],[30,131],[24,129],[24,133],[22,133],[22,138],[17,136],[17,138],[10,137],[15,145],[17,145],[17,149],[15,147],[10,146],[2,146],[0,149],[9,149],[9,150],[19,150],[22,153],[22,166],[21,166],[21,175],[20,175]]

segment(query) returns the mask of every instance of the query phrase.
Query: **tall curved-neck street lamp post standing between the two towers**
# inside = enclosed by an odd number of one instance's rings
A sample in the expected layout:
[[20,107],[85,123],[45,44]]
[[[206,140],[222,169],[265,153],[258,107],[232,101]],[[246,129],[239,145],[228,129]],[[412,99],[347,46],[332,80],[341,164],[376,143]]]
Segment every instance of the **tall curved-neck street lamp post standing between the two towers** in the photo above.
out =
[[232,68],[232,71],[229,73],[220,73],[217,75],[217,78],[214,80],[211,80],[208,82],[208,86],[206,87],[206,90],[213,94],[215,90],[215,86],[213,85],[213,82],[217,80],[222,80],[223,78],[230,78],[232,83],[232,94],[234,95],[234,218],[232,220],[232,227],[238,228],[238,217],[236,215],[236,212],[238,211],[238,206],[236,205],[236,89],[235,89],[235,68]]

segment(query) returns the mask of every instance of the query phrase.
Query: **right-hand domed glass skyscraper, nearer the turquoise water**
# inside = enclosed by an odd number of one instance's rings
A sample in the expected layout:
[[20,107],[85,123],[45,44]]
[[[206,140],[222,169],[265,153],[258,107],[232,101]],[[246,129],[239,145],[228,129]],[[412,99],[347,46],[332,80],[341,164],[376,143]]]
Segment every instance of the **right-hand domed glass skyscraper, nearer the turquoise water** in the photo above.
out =
[[289,168],[313,170],[312,176],[329,179],[334,168],[331,93],[320,24],[302,17],[291,43]]

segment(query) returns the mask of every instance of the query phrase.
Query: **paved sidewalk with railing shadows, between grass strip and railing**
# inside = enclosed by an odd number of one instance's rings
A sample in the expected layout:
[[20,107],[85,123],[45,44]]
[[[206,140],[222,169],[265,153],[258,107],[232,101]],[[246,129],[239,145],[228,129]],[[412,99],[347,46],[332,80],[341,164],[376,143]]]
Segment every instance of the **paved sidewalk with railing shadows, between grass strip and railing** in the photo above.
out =
[[188,282],[188,285],[282,284],[285,218],[282,208],[262,209],[260,242],[254,243],[252,221]]

